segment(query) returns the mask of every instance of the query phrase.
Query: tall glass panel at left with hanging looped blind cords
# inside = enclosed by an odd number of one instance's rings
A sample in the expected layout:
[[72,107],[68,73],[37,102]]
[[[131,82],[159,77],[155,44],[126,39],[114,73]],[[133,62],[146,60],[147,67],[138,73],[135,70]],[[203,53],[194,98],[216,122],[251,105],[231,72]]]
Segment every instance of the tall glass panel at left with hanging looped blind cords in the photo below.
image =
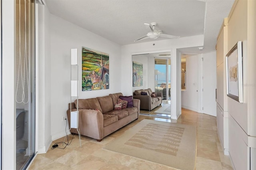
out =
[[34,0],[16,0],[16,169],[35,155]]

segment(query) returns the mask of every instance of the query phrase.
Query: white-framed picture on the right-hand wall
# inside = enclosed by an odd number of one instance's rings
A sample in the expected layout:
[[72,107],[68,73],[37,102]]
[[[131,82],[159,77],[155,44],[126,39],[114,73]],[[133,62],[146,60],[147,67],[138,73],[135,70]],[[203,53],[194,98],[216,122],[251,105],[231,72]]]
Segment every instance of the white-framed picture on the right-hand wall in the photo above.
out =
[[226,55],[228,97],[243,103],[242,42],[237,42]]

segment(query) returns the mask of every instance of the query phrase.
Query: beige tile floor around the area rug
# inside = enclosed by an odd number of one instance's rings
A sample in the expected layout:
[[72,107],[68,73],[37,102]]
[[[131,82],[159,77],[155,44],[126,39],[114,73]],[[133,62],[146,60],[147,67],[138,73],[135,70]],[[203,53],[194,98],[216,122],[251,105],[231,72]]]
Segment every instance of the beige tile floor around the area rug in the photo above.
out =
[[[106,144],[123,134],[143,119],[177,122],[197,126],[196,170],[232,170],[229,156],[225,156],[218,138],[216,117],[182,109],[179,119],[157,118],[141,115],[138,120],[126,125],[103,138],[101,142],[82,136],[80,148],[78,135],[65,149],[51,149],[45,154],[38,154],[30,170],[175,170],[128,155],[102,149]],[[72,136],[72,135],[70,135]],[[70,139],[70,138],[69,138]],[[63,138],[54,142],[62,142]],[[52,144],[54,144],[54,142]]]

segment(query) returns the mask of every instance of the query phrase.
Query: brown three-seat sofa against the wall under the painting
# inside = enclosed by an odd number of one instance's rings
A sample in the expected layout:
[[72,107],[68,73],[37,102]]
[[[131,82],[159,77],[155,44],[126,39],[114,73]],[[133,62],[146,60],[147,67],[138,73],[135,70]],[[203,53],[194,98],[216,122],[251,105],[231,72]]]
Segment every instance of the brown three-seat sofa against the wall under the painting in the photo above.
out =
[[[122,93],[109,94],[104,97],[92,99],[78,99],[69,104],[67,111],[68,124],[70,126],[70,107],[76,111],[78,107],[78,128],[81,135],[88,136],[101,141],[102,138],[138,119],[140,114],[140,100],[133,99],[133,106],[122,110],[114,110],[114,104],[118,103]],[[98,109],[99,111],[96,111]],[[78,134],[77,130],[71,128],[70,132]]]

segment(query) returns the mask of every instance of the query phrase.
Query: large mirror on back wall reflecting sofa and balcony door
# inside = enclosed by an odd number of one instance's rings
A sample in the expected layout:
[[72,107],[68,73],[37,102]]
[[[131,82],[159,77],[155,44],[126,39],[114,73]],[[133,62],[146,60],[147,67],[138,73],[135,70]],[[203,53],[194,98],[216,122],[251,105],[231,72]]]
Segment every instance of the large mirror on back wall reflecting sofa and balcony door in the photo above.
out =
[[[170,52],[132,55],[132,92],[134,99],[140,99],[140,114],[170,117],[171,62],[167,56]],[[140,91],[146,92],[145,96]]]

